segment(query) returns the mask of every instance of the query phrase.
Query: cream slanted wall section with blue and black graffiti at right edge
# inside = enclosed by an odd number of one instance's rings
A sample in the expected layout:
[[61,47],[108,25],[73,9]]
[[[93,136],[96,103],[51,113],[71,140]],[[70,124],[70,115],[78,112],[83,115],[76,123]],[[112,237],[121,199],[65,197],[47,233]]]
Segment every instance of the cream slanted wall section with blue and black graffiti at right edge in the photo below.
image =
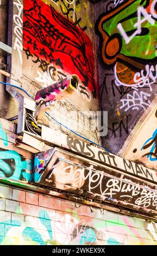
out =
[[[127,149],[124,150],[123,156],[129,157],[133,161],[138,161],[144,164],[145,166],[156,170],[156,161],[157,161],[157,130],[156,130],[156,99],[155,103],[152,104],[152,109],[149,113],[145,113],[142,117],[141,123],[139,125],[139,130],[130,143],[128,144]],[[149,127],[149,129],[148,129]]]

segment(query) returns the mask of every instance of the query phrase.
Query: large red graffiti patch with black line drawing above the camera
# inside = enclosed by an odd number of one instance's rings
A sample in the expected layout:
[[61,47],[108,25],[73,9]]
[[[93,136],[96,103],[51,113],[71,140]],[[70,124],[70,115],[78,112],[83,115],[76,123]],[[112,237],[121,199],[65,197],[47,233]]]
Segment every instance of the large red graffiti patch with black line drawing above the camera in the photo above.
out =
[[[88,36],[41,0],[24,0],[23,47],[40,67],[53,63],[76,74],[96,97],[94,52]],[[46,68],[43,70],[46,71]]]

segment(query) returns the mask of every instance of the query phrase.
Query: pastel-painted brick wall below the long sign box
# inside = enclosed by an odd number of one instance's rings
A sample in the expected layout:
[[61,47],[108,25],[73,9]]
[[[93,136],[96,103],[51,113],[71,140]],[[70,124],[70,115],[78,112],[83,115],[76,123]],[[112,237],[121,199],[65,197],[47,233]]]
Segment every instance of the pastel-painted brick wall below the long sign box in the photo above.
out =
[[0,186],[1,245],[157,245],[157,225]]

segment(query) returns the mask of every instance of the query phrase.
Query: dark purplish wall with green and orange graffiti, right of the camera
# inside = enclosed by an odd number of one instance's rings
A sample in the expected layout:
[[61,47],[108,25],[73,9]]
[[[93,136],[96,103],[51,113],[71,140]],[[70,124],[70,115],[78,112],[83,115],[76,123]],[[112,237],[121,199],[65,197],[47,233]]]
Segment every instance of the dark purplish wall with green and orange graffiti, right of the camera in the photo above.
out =
[[156,1],[100,1],[95,16],[102,141],[118,153],[156,95]]

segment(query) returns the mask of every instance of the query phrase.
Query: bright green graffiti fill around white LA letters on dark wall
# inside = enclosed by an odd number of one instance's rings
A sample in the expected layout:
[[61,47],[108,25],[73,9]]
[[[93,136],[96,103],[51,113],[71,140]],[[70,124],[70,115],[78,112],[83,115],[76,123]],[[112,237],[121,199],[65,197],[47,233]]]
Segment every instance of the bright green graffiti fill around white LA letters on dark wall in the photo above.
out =
[[[123,27],[125,34],[128,38],[133,35],[136,31],[135,24],[139,23],[139,17],[137,17],[137,9],[139,7],[146,7],[148,1],[133,1],[125,8],[121,8],[120,11],[117,11],[115,14],[110,16],[110,19],[104,20],[102,23],[103,31],[109,36],[114,36],[119,34],[121,36],[121,50],[120,53],[126,57],[136,57],[146,60],[154,60],[155,55],[155,45],[157,44],[156,38],[156,28],[157,20],[154,20],[154,23],[150,23],[149,19],[142,22],[143,15],[141,14],[141,33],[136,34],[128,43],[125,42],[123,36],[120,33],[117,25],[120,23]],[[146,10],[146,9],[145,9]],[[105,17],[105,16],[104,16]]]

